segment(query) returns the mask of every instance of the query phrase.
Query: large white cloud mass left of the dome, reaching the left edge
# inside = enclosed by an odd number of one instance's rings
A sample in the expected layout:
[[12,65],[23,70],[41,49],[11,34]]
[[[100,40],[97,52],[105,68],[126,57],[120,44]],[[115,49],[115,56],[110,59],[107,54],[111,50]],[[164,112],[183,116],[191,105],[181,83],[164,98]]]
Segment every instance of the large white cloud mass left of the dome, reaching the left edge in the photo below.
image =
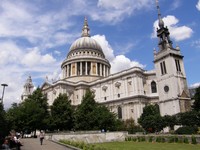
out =
[[60,62],[56,62],[48,53],[41,54],[37,48],[29,49],[27,53],[27,50],[12,41],[0,41],[0,45],[0,83],[8,84],[4,95],[5,108],[20,101],[23,85],[29,75],[35,74],[33,78],[41,79],[45,74],[60,68]]

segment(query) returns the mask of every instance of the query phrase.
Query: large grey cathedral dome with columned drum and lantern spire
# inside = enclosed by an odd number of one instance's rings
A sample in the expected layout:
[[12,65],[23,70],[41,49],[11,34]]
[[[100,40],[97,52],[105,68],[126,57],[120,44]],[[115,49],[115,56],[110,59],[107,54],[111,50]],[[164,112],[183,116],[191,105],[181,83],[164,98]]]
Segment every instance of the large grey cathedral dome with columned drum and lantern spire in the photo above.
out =
[[61,65],[63,79],[92,81],[109,76],[110,63],[101,46],[89,34],[87,20],[84,21],[82,36],[70,47],[67,58]]

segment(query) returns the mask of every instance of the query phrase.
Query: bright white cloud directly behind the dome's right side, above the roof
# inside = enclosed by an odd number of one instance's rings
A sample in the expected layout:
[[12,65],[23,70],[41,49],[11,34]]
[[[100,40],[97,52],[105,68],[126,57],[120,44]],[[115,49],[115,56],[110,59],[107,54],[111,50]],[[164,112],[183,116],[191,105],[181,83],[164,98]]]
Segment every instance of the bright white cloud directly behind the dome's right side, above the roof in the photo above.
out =
[[140,64],[138,61],[132,61],[127,58],[125,55],[114,55],[114,50],[111,45],[106,40],[105,35],[94,35],[92,37],[95,39],[102,47],[103,52],[106,58],[109,60],[111,64],[111,73],[116,73],[134,66],[138,66],[144,68],[145,66]]

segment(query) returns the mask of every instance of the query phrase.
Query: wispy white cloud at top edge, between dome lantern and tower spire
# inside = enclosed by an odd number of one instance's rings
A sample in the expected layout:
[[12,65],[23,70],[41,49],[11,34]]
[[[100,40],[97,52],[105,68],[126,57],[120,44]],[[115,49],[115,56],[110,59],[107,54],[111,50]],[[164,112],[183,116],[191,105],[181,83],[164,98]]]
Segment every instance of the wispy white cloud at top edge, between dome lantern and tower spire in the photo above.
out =
[[115,24],[138,10],[148,10],[152,4],[151,0],[98,0],[97,8],[89,9],[88,13],[93,20]]

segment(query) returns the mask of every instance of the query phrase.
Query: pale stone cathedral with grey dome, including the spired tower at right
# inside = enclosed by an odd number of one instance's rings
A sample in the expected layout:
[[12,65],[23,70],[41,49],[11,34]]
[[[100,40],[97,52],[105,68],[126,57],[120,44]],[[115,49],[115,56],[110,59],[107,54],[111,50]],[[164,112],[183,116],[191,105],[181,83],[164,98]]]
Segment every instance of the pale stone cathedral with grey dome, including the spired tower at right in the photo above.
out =
[[71,104],[81,103],[86,89],[95,94],[98,103],[109,107],[118,118],[137,119],[147,104],[159,104],[161,115],[173,115],[190,109],[190,97],[180,48],[173,47],[170,33],[161,19],[159,6],[159,50],[154,50],[154,70],[133,67],[110,74],[111,65],[101,46],[89,34],[87,19],[82,35],[72,43],[61,64],[62,78],[42,86],[49,105],[60,93],[66,93]]

